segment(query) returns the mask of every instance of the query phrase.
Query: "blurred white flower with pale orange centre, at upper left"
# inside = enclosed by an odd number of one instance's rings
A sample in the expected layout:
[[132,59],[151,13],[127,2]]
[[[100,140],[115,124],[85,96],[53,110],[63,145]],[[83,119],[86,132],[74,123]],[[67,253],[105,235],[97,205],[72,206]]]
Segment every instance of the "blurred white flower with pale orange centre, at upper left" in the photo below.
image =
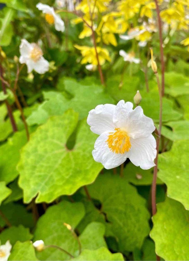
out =
[[35,70],[37,73],[43,74],[49,70],[49,62],[43,57],[41,48],[35,43],[28,43],[22,39],[20,44],[20,63],[25,63],[28,67],[28,73]]

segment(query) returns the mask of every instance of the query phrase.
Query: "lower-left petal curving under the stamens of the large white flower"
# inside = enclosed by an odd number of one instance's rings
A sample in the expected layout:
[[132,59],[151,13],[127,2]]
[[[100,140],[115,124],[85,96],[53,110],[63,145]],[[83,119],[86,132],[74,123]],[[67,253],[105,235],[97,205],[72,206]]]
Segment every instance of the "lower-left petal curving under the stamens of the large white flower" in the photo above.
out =
[[94,144],[95,149],[92,151],[92,154],[94,160],[102,163],[105,169],[112,169],[125,162],[130,153],[116,154],[112,152],[106,142],[108,135],[108,132],[104,132],[96,139]]

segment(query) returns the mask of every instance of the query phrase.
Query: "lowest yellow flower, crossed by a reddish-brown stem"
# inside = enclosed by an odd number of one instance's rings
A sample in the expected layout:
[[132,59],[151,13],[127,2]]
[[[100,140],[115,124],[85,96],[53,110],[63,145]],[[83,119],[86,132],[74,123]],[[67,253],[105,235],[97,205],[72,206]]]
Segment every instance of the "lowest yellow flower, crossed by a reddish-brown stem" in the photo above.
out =
[[[75,44],[74,47],[81,51],[81,55],[83,56],[83,59],[81,60],[81,64],[90,63],[90,64],[98,65],[97,58],[96,58],[96,51],[94,47],[80,46],[77,44]],[[103,65],[106,62],[106,60],[109,62],[111,61],[107,49],[97,46],[96,50],[99,57],[100,65]]]

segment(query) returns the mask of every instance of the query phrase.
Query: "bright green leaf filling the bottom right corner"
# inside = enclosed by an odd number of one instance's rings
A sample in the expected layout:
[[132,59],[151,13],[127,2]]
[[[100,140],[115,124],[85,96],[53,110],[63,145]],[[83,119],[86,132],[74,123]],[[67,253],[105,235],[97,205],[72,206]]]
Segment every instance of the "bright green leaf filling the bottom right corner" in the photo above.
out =
[[179,202],[166,198],[157,204],[150,232],[156,253],[165,260],[188,260],[189,212]]

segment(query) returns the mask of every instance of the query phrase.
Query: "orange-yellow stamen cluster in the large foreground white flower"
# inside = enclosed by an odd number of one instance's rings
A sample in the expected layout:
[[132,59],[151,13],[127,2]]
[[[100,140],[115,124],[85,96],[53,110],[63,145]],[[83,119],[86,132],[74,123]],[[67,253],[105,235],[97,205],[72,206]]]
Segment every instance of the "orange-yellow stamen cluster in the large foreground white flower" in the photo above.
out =
[[109,132],[109,134],[106,142],[112,152],[123,154],[131,149],[130,137],[125,131],[115,128],[115,132]]

